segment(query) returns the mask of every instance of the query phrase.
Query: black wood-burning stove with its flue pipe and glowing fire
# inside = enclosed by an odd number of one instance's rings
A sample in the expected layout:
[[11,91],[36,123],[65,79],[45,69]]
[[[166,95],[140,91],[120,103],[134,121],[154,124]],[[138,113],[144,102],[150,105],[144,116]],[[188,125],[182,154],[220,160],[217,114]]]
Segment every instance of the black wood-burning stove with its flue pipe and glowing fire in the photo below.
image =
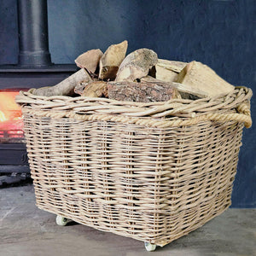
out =
[[14,100],[20,87],[27,90],[54,85],[77,71],[75,65],[56,65],[51,62],[47,0],[17,0],[17,10],[19,62],[0,66],[0,173],[2,174],[29,172],[20,108],[15,105]]

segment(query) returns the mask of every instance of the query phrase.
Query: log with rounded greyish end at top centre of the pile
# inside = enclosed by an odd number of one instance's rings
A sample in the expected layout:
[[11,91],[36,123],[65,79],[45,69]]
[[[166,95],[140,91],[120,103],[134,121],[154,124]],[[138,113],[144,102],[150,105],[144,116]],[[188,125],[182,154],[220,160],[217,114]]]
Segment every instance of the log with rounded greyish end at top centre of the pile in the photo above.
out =
[[152,49],[137,49],[125,57],[117,73],[116,82],[141,79],[156,65],[157,54]]

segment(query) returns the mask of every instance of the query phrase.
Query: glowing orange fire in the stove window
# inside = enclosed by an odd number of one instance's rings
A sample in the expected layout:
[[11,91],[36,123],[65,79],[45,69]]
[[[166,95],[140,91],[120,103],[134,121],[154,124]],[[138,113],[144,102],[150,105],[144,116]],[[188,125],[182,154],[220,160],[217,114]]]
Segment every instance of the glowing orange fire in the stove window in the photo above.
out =
[[0,143],[24,143],[21,108],[15,103],[20,90],[0,90]]

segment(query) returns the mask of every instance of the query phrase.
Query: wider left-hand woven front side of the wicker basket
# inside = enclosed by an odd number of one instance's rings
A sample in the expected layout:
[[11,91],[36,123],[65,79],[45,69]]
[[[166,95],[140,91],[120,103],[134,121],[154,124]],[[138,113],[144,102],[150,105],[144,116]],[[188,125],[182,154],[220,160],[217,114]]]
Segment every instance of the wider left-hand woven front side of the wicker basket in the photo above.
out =
[[161,130],[24,115],[37,205],[143,241],[158,236]]

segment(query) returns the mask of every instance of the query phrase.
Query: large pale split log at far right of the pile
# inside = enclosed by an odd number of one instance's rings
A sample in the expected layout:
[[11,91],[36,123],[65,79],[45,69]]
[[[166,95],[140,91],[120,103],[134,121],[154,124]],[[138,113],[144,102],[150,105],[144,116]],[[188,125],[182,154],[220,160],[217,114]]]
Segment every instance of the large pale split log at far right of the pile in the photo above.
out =
[[192,61],[184,67],[178,74],[176,82],[186,84],[195,90],[201,90],[210,97],[228,94],[235,89],[210,67],[197,61]]

